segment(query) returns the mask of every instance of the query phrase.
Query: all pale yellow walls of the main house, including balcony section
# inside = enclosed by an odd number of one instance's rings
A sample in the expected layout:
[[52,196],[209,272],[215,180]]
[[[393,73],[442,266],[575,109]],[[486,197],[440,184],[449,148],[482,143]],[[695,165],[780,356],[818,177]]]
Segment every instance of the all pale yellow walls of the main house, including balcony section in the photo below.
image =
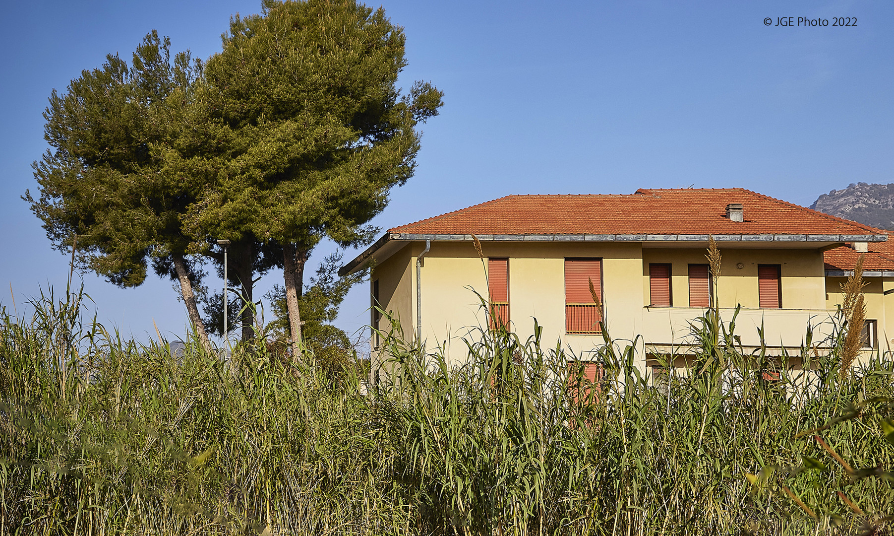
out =
[[[688,308],[688,264],[704,264],[704,249],[644,249],[639,242],[482,242],[486,258],[509,258],[510,321],[523,339],[533,334],[534,319],[544,328],[544,347],[561,341],[577,355],[603,343],[601,336],[565,335],[564,259],[603,259],[603,300],[609,333],[615,339],[641,335],[646,344],[679,343],[690,319],[702,314]],[[380,293],[394,289],[389,307],[406,326],[416,323],[416,256],[424,243],[414,242],[379,265]],[[737,332],[745,344],[757,344],[756,327],[763,322],[767,343],[800,343],[807,322],[828,314],[822,253],[810,250],[721,248],[718,285],[722,308],[741,303]],[[672,264],[673,308],[646,308],[649,302],[648,265]],[[741,262],[743,268],[737,268]],[[780,264],[784,310],[757,309],[757,265]],[[387,272],[387,275],[386,275]],[[388,284],[385,285],[384,281]],[[486,311],[475,290],[487,295],[485,266],[471,242],[432,242],[422,268],[423,339],[429,350],[443,346],[453,362],[468,353],[462,337],[476,338],[475,328],[487,325]],[[393,304],[393,305],[392,305]],[[409,316],[408,316],[409,315]],[[469,330],[472,328],[472,331]],[[405,328],[412,336],[409,328]],[[881,331],[881,325],[880,325]],[[892,332],[894,333],[894,332]],[[881,335],[881,334],[880,334]],[[782,340],[782,339],[785,340]],[[645,369],[645,352],[640,352]]]

